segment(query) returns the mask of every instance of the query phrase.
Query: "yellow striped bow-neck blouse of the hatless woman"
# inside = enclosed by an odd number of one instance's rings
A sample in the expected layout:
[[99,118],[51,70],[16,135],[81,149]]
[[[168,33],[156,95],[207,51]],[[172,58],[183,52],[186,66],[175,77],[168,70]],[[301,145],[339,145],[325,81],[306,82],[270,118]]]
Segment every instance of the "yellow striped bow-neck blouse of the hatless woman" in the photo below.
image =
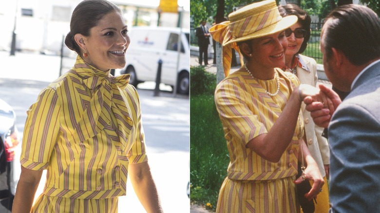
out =
[[39,205],[51,205],[52,196],[125,195],[128,164],[148,160],[138,94],[128,82],[129,75],[114,77],[78,56],[40,92],[28,110],[20,158],[25,168],[48,170]]

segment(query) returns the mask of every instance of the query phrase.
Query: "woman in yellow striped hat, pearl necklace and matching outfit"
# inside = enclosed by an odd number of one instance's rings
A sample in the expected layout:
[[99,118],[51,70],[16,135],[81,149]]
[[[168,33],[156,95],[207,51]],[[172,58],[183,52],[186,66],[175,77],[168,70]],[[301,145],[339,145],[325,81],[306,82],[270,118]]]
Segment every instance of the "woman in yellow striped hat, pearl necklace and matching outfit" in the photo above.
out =
[[[275,0],[247,5],[210,28],[223,45],[226,78],[215,90],[215,103],[229,151],[228,177],[219,192],[217,213],[299,212],[295,184],[313,180],[304,196],[312,199],[324,181],[304,143],[300,111],[304,97],[331,103],[318,89],[299,86],[285,66],[285,29],[297,17],[282,18]],[[229,74],[231,49],[246,63]],[[303,147],[303,148],[302,148]],[[296,180],[298,161],[304,159]]]

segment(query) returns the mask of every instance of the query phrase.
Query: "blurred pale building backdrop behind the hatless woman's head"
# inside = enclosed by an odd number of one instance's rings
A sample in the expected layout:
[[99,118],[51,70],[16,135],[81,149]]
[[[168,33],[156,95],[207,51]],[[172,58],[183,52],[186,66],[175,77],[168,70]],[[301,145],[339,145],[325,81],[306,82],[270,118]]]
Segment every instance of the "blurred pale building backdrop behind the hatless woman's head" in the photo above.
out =
[[[81,0],[12,0],[0,3],[0,50],[60,54],[62,37]],[[190,28],[190,0],[111,0],[132,26]],[[178,4],[178,6],[177,6]],[[13,42],[13,44],[12,44]],[[64,49],[64,55],[72,53]]]

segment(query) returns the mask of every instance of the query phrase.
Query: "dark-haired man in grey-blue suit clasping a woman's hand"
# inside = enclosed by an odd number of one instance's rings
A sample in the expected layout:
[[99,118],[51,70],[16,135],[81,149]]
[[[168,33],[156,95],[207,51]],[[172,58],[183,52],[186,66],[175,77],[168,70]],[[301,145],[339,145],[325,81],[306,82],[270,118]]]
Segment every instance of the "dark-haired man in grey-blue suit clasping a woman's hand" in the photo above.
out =
[[322,85],[327,103],[304,99],[315,123],[328,126],[330,212],[380,213],[379,17],[361,5],[334,9],[323,25],[321,51],[328,79],[350,91],[341,102]]

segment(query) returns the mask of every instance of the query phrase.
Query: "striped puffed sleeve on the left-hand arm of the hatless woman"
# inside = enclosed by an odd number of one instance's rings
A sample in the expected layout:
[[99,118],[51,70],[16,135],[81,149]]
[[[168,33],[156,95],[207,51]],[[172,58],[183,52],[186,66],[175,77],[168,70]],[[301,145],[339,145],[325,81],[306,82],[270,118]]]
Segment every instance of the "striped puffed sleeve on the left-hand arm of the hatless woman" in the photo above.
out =
[[59,104],[54,89],[43,89],[27,111],[20,162],[25,168],[43,170],[49,165],[59,134]]

